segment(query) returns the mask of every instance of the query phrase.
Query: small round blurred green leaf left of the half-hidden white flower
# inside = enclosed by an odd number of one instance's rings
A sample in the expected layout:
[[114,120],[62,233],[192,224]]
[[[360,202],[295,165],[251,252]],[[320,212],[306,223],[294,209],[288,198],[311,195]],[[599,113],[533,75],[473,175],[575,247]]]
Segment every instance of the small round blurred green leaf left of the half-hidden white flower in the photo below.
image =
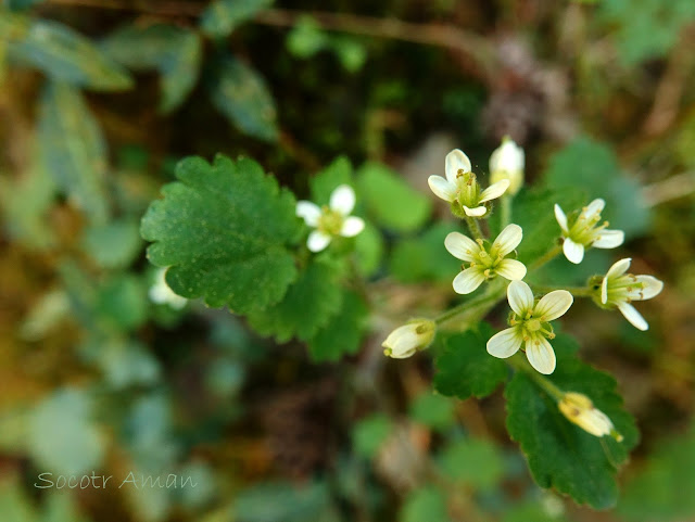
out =
[[102,320],[118,331],[131,330],[147,320],[144,288],[129,273],[116,276],[102,284],[94,307]]

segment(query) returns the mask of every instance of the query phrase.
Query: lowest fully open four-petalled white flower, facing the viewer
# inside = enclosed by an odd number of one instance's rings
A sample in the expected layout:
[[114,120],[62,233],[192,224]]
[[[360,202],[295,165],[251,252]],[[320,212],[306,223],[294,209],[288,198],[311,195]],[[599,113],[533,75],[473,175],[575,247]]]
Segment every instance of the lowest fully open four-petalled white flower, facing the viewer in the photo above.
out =
[[523,281],[511,281],[507,287],[507,298],[514,310],[511,328],[494,334],[488,341],[488,353],[507,358],[516,354],[525,344],[526,356],[531,366],[541,373],[555,370],[555,352],[548,343],[554,339],[549,322],[565,315],[572,306],[572,294],[567,290],[555,290],[534,305],[533,292]]

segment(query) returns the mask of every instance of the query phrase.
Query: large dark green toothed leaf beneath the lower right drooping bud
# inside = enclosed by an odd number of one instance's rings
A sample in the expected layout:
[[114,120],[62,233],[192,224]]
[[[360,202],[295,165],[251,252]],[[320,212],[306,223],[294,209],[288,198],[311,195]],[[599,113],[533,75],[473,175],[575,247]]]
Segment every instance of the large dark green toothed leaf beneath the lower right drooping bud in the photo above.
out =
[[507,430],[541,487],[555,487],[595,509],[609,508],[618,498],[617,467],[637,443],[634,419],[623,409],[616,380],[577,358],[572,338],[559,334],[553,348],[557,368],[548,379],[560,390],[589,396],[624,440],[599,438],[571,423],[560,413],[557,402],[521,371],[505,391]]

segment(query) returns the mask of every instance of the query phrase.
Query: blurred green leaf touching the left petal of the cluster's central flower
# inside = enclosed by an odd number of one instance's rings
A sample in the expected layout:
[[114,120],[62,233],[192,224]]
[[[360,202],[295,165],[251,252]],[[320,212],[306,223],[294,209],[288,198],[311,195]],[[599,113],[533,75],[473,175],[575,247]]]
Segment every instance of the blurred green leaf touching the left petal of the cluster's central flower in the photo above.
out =
[[452,282],[460,271],[460,262],[444,247],[444,238],[460,230],[454,224],[440,222],[419,238],[399,241],[391,253],[389,268],[402,282]]

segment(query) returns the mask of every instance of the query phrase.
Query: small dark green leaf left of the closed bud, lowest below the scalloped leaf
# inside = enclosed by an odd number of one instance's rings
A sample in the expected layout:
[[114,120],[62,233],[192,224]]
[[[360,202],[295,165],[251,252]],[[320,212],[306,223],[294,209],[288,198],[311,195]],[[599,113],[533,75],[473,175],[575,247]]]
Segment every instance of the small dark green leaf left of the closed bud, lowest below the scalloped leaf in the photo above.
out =
[[308,341],[314,361],[339,360],[343,355],[356,354],[367,329],[369,309],[353,292],[345,292],[338,314]]

